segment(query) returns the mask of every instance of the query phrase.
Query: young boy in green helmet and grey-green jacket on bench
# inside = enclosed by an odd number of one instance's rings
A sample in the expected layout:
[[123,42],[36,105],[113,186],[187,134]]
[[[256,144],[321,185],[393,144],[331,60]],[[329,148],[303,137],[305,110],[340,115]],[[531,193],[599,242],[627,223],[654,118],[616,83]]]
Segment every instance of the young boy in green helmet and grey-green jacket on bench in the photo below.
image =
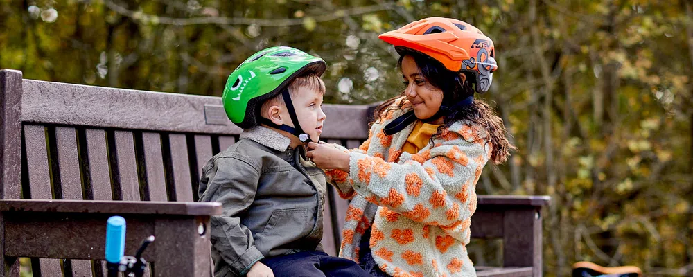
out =
[[229,75],[222,102],[243,134],[204,166],[198,191],[223,209],[211,218],[214,276],[368,276],[319,245],[326,178],[304,144],[322,133],[325,69],[318,57],[272,47]]

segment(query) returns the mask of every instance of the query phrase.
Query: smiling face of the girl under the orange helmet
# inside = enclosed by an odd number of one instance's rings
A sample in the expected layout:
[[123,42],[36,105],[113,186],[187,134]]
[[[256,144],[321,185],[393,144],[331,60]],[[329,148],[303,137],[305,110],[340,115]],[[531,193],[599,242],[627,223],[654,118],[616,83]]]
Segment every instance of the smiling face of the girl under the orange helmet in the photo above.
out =
[[[423,77],[421,69],[414,62],[411,56],[405,56],[402,60],[402,78],[407,86],[405,95],[414,107],[414,114],[419,119],[429,119],[440,109],[443,102],[443,91],[430,84]],[[430,118],[435,120],[434,124],[441,124],[436,121],[442,118]]]

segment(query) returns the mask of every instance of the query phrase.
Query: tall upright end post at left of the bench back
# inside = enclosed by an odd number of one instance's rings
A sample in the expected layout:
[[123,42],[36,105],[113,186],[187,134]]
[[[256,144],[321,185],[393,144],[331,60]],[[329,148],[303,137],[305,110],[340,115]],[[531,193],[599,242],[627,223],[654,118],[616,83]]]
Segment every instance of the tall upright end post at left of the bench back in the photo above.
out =
[[0,70],[0,199],[21,195],[21,71]]

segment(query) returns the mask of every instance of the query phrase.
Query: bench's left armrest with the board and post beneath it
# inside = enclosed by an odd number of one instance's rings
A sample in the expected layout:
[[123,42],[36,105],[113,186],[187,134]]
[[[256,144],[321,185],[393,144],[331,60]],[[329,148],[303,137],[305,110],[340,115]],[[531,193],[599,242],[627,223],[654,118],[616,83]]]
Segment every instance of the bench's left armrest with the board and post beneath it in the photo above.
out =
[[156,276],[211,274],[209,220],[219,203],[80,200],[0,200],[0,252],[5,258],[104,260],[106,220],[125,218],[125,255],[144,238],[143,258]]

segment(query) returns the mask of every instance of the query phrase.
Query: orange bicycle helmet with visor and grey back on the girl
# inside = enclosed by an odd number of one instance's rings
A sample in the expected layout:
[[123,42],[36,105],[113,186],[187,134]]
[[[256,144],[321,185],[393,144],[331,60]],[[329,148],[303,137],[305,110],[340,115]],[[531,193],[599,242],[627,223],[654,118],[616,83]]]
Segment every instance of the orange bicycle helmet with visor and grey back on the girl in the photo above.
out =
[[473,73],[475,88],[484,93],[491,87],[495,62],[493,41],[464,21],[428,17],[378,36],[385,42],[424,53],[455,72]]

